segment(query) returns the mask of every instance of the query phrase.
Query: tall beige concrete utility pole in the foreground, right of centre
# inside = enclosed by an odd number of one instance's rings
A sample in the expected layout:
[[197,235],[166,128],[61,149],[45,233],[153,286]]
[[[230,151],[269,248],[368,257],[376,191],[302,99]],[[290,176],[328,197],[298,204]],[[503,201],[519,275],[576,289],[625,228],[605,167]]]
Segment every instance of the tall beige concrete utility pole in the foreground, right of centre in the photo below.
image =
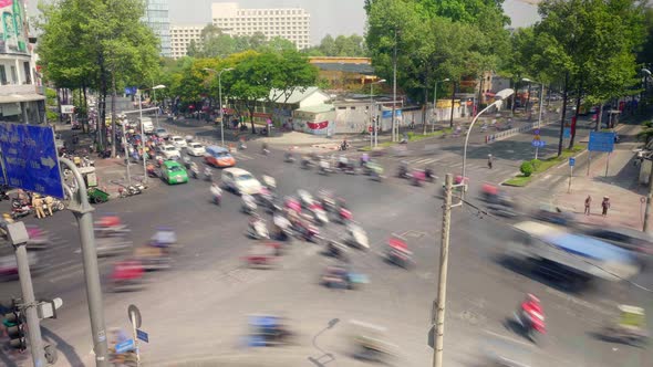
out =
[[[459,187],[459,185],[456,185]],[[445,176],[445,198],[442,219],[442,244],[439,249],[439,282],[437,283],[435,342],[433,354],[433,367],[443,366],[443,348],[445,336],[445,305],[447,302],[447,269],[449,263],[449,230],[452,227],[452,197],[454,189],[454,176]],[[460,206],[457,203],[457,206]]]

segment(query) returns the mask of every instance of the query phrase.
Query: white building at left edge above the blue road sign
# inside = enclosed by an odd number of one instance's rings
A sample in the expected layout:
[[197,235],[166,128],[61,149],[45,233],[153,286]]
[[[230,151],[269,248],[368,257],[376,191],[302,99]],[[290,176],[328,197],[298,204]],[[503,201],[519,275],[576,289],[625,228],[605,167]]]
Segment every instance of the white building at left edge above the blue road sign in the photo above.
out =
[[28,19],[22,0],[0,6],[17,27],[6,28],[0,40],[0,120],[23,124],[45,122],[45,96],[35,81]]

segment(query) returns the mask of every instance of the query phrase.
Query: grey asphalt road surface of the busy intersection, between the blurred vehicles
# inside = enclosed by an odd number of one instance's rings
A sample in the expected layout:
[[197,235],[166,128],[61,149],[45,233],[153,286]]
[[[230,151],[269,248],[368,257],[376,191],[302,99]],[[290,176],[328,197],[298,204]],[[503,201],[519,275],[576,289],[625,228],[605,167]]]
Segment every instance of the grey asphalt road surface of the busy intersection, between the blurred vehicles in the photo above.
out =
[[[542,134],[553,129],[543,129]],[[475,182],[500,181],[510,176],[508,168],[510,172],[517,170],[518,162],[531,149],[527,148],[530,139],[528,135],[518,135],[505,143],[512,149],[499,145],[504,141],[471,147],[470,192],[476,192]],[[446,143],[437,143],[435,155],[419,158],[442,158],[426,162],[436,165],[440,177],[446,171],[455,172],[460,161],[459,146],[456,148],[454,140],[443,140]],[[485,167],[487,151],[497,157],[491,171]],[[394,174],[392,165],[398,158],[385,157],[383,161],[387,162],[388,175]],[[397,350],[394,365],[428,365],[433,349],[426,340],[436,294],[442,222],[442,200],[435,193],[439,192],[440,182],[413,187],[397,178],[380,184],[364,176],[319,176],[297,164],[282,162],[281,151],[263,157],[256,145],[237,155],[237,166],[259,177],[276,177],[281,195],[300,188],[312,192],[325,188],[345,198],[354,219],[370,234],[372,249],[352,251],[352,263],[371,283],[356,291],[323,287],[319,277],[331,260],[321,253],[321,247],[301,241],[296,241],[281,258],[279,269],[247,269],[241,258],[253,241],[245,235],[248,218],[239,211],[240,198],[225,192],[222,206],[217,207],[209,201],[206,181],[156,186],[144,195],[96,207],[94,216],[121,216],[132,228],[135,244],[145,243],[157,227],[172,226],[184,245],[174,255],[172,270],[148,274],[145,290],[105,293],[107,327],[127,328],[126,307],[137,305],[144,319],[142,329],[149,333],[149,343],[141,348],[143,360],[149,366],[182,365],[194,359],[206,360],[207,366],[263,361],[271,366],[317,365],[309,358],[324,365],[357,366],[348,339],[349,321],[356,319],[387,328],[386,338]],[[219,176],[219,170],[215,175]],[[43,336],[58,345],[56,366],[92,365],[74,218],[60,212],[37,223],[55,240],[50,250],[40,253],[42,269],[34,277],[37,295],[64,301],[59,317],[42,323]],[[338,238],[343,228],[329,223],[322,232],[328,238]],[[383,260],[392,233],[408,240],[416,261],[413,269],[403,270]],[[613,319],[616,304],[651,304],[650,294],[607,282],[597,282],[583,293],[569,293],[504,261],[505,245],[512,234],[502,220],[479,216],[468,206],[454,209],[445,336],[447,366],[479,366],[480,356],[487,348],[496,349],[497,343],[520,350],[529,366],[645,366],[653,360],[651,348],[609,344],[592,336]],[[101,260],[104,277],[113,261]],[[650,282],[647,286],[653,283],[650,274],[642,279]],[[547,315],[548,334],[537,345],[509,326],[512,311],[527,292],[540,296]],[[17,282],[0,283],[0,301],[7,302],[19,293]],[[299,334],[297,345],[271,352],[245,348],[247,316],[262,313],[288,317]],[[341,322],[313,339],[333,318]],[[0,360],[8,366],[29,363],[24,355],[7,356],[4,349],[0,353]],[[335,361],[320,359],[325,354],[331,354]]]

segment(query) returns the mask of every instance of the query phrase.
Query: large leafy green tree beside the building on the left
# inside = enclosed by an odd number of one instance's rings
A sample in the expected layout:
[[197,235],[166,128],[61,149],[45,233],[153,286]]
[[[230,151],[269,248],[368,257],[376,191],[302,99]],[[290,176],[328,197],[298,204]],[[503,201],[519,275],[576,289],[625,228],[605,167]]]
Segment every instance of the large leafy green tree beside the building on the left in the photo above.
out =
[[44,76],[61,87],[99,91],[99,143],[103,148],[106,95],[126,83],[148,85],[157,69],[158,39],[141,22],[144,3],[65,0],[41,3],[40,10],[37,52]]

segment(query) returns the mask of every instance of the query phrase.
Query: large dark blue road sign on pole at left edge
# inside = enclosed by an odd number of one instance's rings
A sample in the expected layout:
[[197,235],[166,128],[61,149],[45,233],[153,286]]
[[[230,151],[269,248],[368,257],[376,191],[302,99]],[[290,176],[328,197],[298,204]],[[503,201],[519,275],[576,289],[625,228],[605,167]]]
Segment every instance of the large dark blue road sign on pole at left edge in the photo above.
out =
[[63,199],[52,127],[0,123],[0,151],[3,184]]

